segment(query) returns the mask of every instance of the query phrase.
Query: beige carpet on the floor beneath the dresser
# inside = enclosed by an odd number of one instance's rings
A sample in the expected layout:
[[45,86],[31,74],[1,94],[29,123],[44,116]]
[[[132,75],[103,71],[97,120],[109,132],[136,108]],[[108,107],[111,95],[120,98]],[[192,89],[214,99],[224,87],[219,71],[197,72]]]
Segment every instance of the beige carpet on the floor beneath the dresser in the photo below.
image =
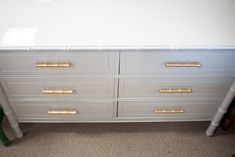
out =
[[231,157],[235,129],[207,137],[209,122],[23,124],[22,140],[0,145],[0,157]]

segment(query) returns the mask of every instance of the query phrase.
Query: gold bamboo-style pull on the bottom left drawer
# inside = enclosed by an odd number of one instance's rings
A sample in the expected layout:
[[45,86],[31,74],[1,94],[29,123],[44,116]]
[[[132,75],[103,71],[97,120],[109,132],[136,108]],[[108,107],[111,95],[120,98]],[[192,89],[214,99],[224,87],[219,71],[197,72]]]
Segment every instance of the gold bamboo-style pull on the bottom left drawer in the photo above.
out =
[[75,109],[67,109],[67,108],[49,108],[49,115],[76,115],[78,112]]

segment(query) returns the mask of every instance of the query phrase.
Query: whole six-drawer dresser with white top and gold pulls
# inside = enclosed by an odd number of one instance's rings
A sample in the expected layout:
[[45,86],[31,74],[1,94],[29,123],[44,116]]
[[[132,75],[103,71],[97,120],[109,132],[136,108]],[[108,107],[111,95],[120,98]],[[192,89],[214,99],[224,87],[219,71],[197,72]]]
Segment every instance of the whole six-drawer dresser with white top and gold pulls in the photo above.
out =
[[235,95],[235,4],[208,14],[208,0],[181,1],[97,0],[102,11],[88,12],[75,0],[2,0],[0,103],[16,136],[27,122],[168,121],[212,121],[212,135]]

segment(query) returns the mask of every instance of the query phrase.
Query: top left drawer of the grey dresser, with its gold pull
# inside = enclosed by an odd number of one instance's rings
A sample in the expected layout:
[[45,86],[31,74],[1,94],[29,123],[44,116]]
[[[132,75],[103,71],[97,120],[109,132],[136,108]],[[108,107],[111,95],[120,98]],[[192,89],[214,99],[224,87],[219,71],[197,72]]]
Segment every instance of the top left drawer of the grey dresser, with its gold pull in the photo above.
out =
[[115,74],[116,52],[1,52],[0,73]]

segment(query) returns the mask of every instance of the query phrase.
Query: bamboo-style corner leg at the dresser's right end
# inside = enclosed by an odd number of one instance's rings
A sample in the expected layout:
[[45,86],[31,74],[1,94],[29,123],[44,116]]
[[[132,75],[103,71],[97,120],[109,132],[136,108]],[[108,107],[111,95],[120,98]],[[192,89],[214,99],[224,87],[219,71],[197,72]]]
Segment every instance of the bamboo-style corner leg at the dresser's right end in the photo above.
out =
[[219,126],[219,123],[221,119],[223,118],[224,114],[227,112],[227,109],[232,102],[233,98],[235,96],[235,81],[233,81],[232,86],[230,87],[227,95],[225,96],[222,104],[217,110],[217,113],[215,114],[213,120],[211,121],[210,126],[206,130],[207,136],[212,136],[215,132],[215,129]]

